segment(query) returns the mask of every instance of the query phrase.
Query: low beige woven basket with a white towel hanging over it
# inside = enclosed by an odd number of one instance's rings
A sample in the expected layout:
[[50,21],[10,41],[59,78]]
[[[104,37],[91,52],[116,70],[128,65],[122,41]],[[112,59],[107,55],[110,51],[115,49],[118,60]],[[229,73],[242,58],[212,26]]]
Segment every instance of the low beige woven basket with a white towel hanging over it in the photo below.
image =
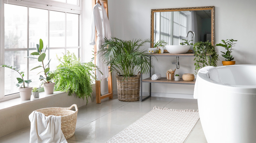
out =
[[[75,107],[75,111],[70,110]],[[36,110],[37,112],[43,113],[45,116],[61,116],[61,130],[65,138],[68,139],[75,133],[75,125],[77,119],[77,105],[73,104],[68,108],[52,107],[43,108]]]

